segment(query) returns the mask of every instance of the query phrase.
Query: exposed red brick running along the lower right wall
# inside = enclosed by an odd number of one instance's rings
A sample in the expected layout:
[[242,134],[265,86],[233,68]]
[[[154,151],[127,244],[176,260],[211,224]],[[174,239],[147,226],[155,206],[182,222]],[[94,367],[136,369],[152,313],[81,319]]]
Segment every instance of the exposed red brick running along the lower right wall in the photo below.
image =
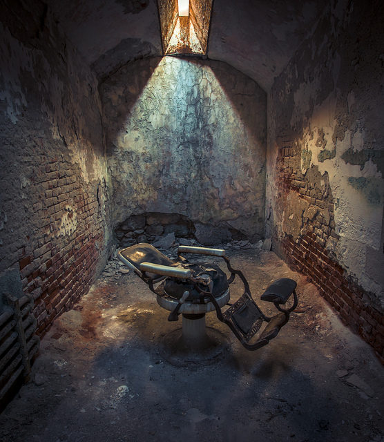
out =
[[[298,238],[287,234],[276,235],[276,251],[294,269],[309,276],[320,294],[338,311],[343,323],[372,345],[384,363],[383,311],[379,306],[372,305],[372,297],[347,276],[345,269],[332,256],[332,251],[326,248],[329,242],[336,243],[339,238],[334,229],[332,193],[327,186],[320,188],[318,181],[311,180],[310,174],[301,173],[299,158],[294,147],[281,146],[277,162],[278,194],[285,201],[289,192],[296,193],[317,214],[312,220],[306,220]],[[326,180],[325,175],[323,178]]]

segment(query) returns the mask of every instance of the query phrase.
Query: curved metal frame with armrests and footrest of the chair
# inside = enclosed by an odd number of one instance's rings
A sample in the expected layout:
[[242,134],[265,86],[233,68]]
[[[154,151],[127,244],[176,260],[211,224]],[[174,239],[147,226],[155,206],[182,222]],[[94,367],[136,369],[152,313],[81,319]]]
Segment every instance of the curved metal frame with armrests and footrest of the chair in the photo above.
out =
[[[162,254],[157,251],[151,244],[137,244],[136,246],[127,247],[118,252],[117,256],[119,260],[124,262],[124,264],[135,271],[137,276],[140,276],[146,284],[148,284],[149,289],[153,291],[157,296],[164,296],[164,282],[158,287],[154,287],[157,282],[162,282],[166,278],[184,280],[186,282],[192,283],[193,288],[198,291],[200,296],[200,302],[212,302],[215,307],[216,316],[218,320],[226,324],[233,334],[238,338],[240,343],[248,350],[256,350],[260,347],[264,347],[269,343],[269,341],[275,338],[280,329],[287,324],[289,320],[289,315],[291,311],[294,311],[298,305],[298,297],[296,294],[296,282],[289,278],[280,278],[274,281],[265,290],[264,294],[260,297],[262,300],[273,302],[276,309],[280,313],[274,316],[266,316],[262,313],[262,310],[258,307],[256,302],[253,300],[251,295],[251,289],[249,288],[249,283],[247,278],[240,270],[236,270],[232,267],[229,258],[225,255],[224,249],[211,249],[207,247],[190,247],[190,246],[180,246],[177,249],[177,261],[169,260],[164,255],[164,260],[167,264],[171,265],[159,265],[153,262],[139,262],[138,265],[133,263],[133,260],[128,258],[129,249],[134,247],[148,247],[148,250],[155,250],[156,253]],[[218,305],[215,296],[213,296],[213,283],[207,275],[196,276],[193,271],[188,268],[184,268],[183,265],[188,263],[188,260],[184,258],[182,253],[198,253],[204,256],[215,256],[220,257],[226,262],[227,269],[231,273],[231,276],[227,278],[228,285],[235,280],[236,276],[240,278],[244,285],[244,292],[236,302],[229,305],[229,308],[222,311],[222,307]],[[125,256],[124,256],[125,255]],[[188,302],[189,292],[184,292],[183,296],[178,300],[178,303],[171,314],[169,314],[169,320],[177,320],[179,315],[179,310],[184,302]],[[294,296],[294,302],[289,308],[282,307],[285,305],[290,296]],[[260,329],[263,322],[267,322],[265,329],[262,331],[260,336],[258,336],[256,342],[250,343],[249,341],[253,336],[256,335]]]

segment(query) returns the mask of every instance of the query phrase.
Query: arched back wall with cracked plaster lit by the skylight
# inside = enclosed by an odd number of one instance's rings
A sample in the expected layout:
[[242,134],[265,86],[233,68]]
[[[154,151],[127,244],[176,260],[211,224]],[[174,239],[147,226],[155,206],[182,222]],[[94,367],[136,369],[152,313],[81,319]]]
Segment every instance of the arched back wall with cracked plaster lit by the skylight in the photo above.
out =
[[227,64],[129,64],[102,84],[113,222],[179,213],[264,233],[266,96]]

